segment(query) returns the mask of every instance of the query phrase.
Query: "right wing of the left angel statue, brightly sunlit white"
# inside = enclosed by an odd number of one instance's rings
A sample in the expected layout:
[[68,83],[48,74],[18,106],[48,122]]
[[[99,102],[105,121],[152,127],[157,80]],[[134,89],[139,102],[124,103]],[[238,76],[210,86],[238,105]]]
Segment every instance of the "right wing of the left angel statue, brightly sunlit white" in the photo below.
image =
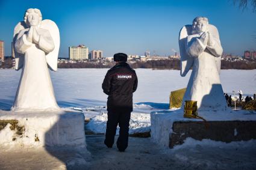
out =
[[57,71],[58,50],[60,49],[60,32],[58,26],[52,20],[45,19],[41,23],[41,28],[48,29],[54,40],[54,50],[50,53],[46,53],[46,62],[51,70]]

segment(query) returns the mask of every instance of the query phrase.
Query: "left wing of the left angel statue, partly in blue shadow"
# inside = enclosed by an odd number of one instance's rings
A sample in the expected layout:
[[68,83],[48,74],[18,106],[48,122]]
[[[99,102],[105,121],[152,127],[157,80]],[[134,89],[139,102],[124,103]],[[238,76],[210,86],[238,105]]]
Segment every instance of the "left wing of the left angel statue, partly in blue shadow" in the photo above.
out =
[[20,30],[26,29],[26,28],[27,28],[26,23],[21,21],[21,22],[17,23],[17,25],[14,28],[14,32],[13,32],[13,49],[14,49],[15,69],[16,70],[19,70],[20,68],[22,68],[23,62],[24,62],[24,55],[22,53],[16,52],[16,50],[14,48],[14,44],[15,44],[15,41],[17,39],[17,36],[18,36]]

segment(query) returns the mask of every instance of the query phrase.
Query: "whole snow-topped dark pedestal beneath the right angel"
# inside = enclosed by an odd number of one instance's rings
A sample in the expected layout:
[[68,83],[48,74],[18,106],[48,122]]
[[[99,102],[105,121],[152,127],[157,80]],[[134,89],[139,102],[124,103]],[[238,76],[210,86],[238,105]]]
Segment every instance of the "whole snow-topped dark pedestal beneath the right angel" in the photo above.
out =
[[208,128],[200,119],[183,118],[183,110],[151,112],[151,138],[162,147],[173,148],[187,138],[198,141],[232,142],[256,139],[256,112],[201,111]]

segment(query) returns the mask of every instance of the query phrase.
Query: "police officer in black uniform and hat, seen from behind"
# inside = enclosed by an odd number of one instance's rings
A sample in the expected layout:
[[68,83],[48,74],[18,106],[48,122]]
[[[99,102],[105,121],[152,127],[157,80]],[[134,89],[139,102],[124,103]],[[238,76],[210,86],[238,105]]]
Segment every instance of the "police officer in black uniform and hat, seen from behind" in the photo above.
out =
[[116,145],[119,151],[128,147],[129,121],[133,111],[133,93],[137,89],[136,72],[126,63],[125,53],[114,54],[116,65],[108,70],[102,89],[108,95],[108,121],[104,144],[111,148],[114,144],[117,124],[120,127]]

